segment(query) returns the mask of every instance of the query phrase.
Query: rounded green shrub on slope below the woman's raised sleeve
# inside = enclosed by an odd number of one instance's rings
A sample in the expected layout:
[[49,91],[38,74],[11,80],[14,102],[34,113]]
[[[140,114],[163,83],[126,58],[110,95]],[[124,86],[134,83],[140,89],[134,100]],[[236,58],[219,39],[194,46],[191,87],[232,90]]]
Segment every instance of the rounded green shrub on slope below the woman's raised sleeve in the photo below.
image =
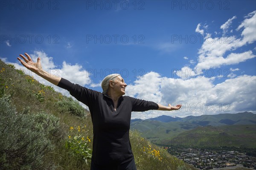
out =
[[68,112],[79,117],[86,115],[85,109],[79,105],[79,102],[74,101],[71,97],[68,97],[67,100],[61,100],[55,105],[61,113]]

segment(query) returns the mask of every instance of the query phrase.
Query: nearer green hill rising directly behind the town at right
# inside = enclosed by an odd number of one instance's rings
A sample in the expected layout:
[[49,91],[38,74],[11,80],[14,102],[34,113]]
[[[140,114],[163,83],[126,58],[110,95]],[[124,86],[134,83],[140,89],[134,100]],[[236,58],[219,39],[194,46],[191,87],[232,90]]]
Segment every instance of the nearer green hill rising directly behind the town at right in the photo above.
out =
[[172,138],[172,145],[201,147],[256,148],[255,125],[206,126],[179,133]]

